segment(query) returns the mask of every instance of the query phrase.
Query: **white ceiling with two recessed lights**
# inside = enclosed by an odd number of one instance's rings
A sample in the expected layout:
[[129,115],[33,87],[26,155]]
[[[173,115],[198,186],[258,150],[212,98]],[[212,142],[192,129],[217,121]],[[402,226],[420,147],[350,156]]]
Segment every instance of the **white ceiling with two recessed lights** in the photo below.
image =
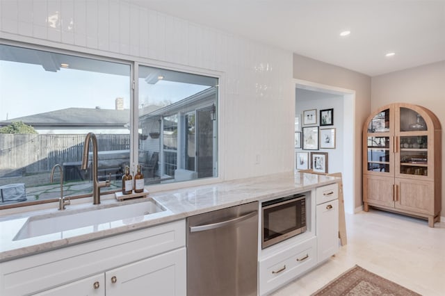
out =
[[445,0],[128,1],[369,76],[445,60]]

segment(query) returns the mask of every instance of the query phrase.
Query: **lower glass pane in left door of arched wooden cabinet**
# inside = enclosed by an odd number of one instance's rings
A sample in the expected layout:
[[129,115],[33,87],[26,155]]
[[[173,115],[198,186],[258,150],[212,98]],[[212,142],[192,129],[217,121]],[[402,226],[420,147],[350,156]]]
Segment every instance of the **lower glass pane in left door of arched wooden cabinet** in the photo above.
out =
[[368,171],[389,172],[389,137],[368,137]]

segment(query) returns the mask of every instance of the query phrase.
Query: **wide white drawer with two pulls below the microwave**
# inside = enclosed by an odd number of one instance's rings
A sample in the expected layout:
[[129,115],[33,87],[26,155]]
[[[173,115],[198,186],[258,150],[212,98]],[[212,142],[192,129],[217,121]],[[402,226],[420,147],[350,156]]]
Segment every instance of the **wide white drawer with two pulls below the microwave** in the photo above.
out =
[[316,238],[310,238],[259,262],[261,295],[295,279],[317,263]]

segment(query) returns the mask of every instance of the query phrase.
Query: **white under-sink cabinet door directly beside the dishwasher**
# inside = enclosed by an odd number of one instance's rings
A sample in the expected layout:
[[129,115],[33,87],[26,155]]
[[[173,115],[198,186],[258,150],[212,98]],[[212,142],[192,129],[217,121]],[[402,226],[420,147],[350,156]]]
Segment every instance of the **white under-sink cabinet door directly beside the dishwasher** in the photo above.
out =
[[105,273],[107,296],[186,295],[186,248]]

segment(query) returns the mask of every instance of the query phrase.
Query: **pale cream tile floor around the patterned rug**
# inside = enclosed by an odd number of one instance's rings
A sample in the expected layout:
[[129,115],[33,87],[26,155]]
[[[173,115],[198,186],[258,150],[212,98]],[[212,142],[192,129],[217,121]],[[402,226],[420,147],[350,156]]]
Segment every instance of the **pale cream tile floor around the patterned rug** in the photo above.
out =
[[273,296],[307,296],[355,264],[424,296],[445,295],[445,222],[370,210],[346,215],[348,245]]

